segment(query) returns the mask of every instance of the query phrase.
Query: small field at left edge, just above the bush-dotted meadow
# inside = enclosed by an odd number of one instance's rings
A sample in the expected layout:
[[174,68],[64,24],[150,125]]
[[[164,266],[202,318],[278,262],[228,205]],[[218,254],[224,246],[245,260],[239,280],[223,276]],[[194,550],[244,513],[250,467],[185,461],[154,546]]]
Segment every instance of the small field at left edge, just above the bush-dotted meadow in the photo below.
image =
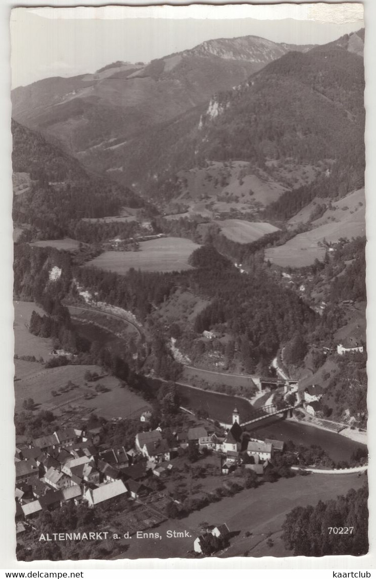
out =
[[39,338],[29,332],[32,310],[43,315],[43,310],[34,302],[13,302],[14,306],[14,353],[18,356],[35,356],[44,360],[50,357],[52,340]]

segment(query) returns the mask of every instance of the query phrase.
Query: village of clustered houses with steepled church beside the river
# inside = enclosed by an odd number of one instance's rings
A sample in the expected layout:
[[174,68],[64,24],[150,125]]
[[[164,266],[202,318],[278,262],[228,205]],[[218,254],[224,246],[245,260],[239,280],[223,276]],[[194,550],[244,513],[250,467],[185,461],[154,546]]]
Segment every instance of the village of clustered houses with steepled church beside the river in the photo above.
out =
[[[106,529],[138,537],[141,531],[184,514],[187,500],[182,500],[184,493],[177,499],[179,492],[174,489],[180,484],[177,481],[188,478],[178,475],[188,470],[186,464],[200,465],[194,467],[194,479],[206,470],[211,481],[208,496],[220,500],[266,479],[274,457],[285,449],[283,441],[250,437],[240,426],[237,408],[228,428],[218,423],[210,427],[209,422],[195,426],[191,420],[194,426],[173,431],[172,438],[170,430],[166,433],[160,426],[151,430],[150,420],[151,412],[143,412],[133,448],[107,444],[101,427],[57,428],[17,446],[17,541],[27,545],[38,518],[67,505],[90,510],[105,507],[112,513]],[[218,481],[222,482],[220,492],[214,488]],[[195,492],[192,477],[190,490]],[[192,510],[200,508],[199,493],[196,499],[190,498]],[[192,556],[220,551],[229,537],[231,531],[224,521],[200,529],[192,535]]]

